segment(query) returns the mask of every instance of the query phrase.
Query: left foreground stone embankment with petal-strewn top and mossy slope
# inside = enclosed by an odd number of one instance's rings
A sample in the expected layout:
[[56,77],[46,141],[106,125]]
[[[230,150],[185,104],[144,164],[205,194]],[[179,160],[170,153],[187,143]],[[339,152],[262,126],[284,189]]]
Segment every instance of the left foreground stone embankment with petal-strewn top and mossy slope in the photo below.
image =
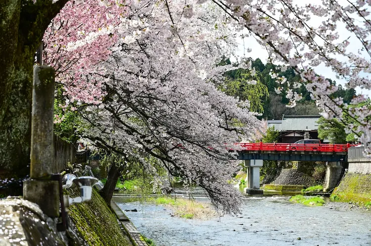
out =
[[[67,193],[79,196],[77,189]],[[0,246],[128,246],[116,215],[93,189],[92,200],[69,208],[68,230],[58,232],[57,219],[21,198],[0,200]]]

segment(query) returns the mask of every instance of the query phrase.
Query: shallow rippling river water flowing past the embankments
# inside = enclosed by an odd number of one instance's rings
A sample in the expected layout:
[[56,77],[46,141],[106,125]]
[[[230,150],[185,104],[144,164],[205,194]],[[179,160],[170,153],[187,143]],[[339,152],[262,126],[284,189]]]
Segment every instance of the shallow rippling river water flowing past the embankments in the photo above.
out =
[[341,203],[306,207],[287,197],[248,197],[238,216],[193,220],[163,206],[114,200],[123,211],[138,210],[125,214],[157,246],[371,245],[371,211]]

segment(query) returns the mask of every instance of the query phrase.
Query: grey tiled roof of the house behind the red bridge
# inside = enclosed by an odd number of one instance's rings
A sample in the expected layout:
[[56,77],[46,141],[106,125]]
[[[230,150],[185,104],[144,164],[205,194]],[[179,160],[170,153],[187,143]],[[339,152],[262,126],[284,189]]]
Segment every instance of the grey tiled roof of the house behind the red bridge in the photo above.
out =
[[278,131],[317,131],[321,115],[287,115],[282,120],[268,120],[268,127]]

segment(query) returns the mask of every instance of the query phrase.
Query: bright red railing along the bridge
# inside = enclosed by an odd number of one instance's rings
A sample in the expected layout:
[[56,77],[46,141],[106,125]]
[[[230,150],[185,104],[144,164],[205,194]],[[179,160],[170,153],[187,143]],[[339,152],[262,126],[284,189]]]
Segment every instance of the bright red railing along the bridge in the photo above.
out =
[[242,150],[347,152],[356,144],[238,142]]

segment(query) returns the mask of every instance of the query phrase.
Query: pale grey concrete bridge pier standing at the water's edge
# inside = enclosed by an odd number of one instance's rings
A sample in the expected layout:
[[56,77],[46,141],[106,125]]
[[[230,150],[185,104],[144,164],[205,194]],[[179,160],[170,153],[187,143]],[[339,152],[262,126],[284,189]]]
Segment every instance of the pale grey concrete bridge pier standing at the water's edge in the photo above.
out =
[[247,187],[244,192],[250,195],[263,194],[260,189],[260,168],[263,167],[263,160],[245,160],[245,167],[247,167],[246,184]]

